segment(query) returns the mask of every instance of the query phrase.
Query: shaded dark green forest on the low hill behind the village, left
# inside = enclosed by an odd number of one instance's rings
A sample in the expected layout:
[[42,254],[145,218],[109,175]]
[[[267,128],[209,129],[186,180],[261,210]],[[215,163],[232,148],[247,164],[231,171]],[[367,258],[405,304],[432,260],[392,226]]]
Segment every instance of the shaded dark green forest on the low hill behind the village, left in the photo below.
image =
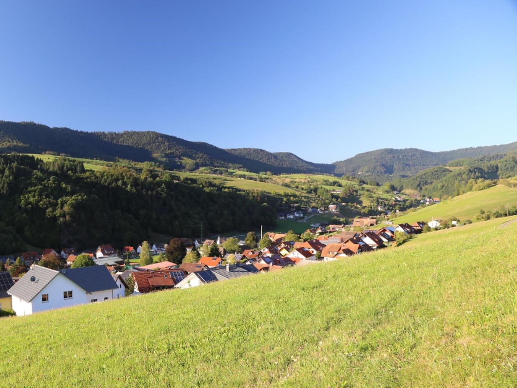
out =
[[0,254],[38,247],[139,244],[152,228],[177,237],[274,226],[276,211],[252,192],[213,182],[178,182],[172,173],[0,155]]

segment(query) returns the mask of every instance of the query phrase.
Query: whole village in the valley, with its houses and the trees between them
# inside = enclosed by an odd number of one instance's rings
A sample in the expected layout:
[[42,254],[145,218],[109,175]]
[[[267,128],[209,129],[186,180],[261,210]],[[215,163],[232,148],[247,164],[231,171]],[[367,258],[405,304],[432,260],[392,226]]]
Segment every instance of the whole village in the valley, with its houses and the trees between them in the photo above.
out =
[[[330,204],[280,213],[278,218],[310,219],[313,214],[338,212],[339,205]],[[25,316],[165,289],[187,289],[396,247],[416,234],[442,227],[440,220],[410,224],[378,220],[356,217],[349,223],[313,222],[301,234],[292,230],[249,232],[244,240],[238,238],[244,235],[184,237],[168,243],[144,241],[136,247],[102,244],[80,252],[71,247],[46,248],[0,256],[0,308]],[[457,226],[457,222],[449,226]]]

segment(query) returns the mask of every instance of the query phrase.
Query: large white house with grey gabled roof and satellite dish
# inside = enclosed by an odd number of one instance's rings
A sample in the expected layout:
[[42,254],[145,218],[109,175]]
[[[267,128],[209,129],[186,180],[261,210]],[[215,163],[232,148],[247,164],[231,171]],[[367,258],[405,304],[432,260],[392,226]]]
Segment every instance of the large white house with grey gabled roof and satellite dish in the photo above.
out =
[[8,293],[16,315],[123,297],[105,266],[54,271],[34,265]]

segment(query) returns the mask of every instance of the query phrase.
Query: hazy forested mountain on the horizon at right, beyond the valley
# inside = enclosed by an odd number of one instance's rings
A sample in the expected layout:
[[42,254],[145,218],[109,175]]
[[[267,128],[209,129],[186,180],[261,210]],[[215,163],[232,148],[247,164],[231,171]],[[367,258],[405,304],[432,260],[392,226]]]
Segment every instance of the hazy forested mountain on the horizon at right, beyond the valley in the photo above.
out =
[[517,142],[484,147],[460,148],[459,150],[430,152],[417,148],[383,148],[357,154],[352,158],[335,162],[335,173],[349,175],[412,175],[430,167],[445,165],[449,161],[503,154],[517,150]]

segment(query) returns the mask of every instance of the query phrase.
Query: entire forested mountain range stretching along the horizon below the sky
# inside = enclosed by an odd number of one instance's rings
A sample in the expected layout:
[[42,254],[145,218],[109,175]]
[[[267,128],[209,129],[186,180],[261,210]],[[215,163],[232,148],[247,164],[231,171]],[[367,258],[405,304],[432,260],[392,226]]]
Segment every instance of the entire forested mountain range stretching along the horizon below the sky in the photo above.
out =
[[33,122],[0,121],[0,152],[55,152],[72,157],[155,161],[168,168],[222,167],[273,173],[331,173],[386,181],[413,175],[454,159],[503,154],[517,150],[517,142],[502,145],[430,152],[418,148],[382,148],[331,164],[313,163],[289,152],[260,148],[223,149],[154,131],[86,132],[51,128]]

